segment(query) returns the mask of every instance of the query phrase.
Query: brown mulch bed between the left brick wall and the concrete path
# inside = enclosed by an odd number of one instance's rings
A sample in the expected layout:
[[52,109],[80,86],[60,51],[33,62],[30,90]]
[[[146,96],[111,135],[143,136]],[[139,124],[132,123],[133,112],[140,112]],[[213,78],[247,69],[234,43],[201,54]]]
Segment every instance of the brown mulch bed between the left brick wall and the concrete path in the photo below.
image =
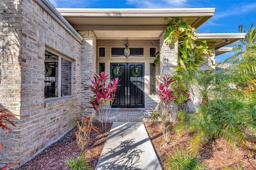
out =
[[[112,123],[106,123],[106,127],[101,127],[101,123],[94,123],[98,128],[98,132],[92,130],[90,134],[90,143],[85,152],[89,164],[95,169],[100,153],[105,144],[106,138],[112,126]],[[76,144],[75,132],[76,128],[70,130],[60,140],[46,148],[35,158],[28,161],[20,169],[21,170],[69,170],[66,160],[68,158],[76,158],[80,153]]]

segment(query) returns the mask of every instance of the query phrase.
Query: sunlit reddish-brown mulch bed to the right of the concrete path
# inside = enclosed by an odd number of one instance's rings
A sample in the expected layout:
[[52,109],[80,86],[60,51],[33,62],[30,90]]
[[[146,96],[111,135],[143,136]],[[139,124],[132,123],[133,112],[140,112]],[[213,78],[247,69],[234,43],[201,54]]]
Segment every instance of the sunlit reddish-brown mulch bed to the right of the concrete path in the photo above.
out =
[[[146,122],[144,125],[161,164],[164,164],[166,154],[175,151],[176,146],[179,148],[188,148],[189,134],[179,136],[178,134],[172,133],[170,143],[165,146],[162,143],[162,131],[158,128],[157,124],[155,122]],[[172,124],[170,124],[170,127],[172,127]],[[253,141],[248,143],[248,148],[256,152],[254,146],[256,146],[255,136],[253,136]],[[238,147],[236,150],[233,150],[223,140],[215,140],[211,144],[204,146],[199,156],[202,158],[202,162],[207,163],[207,168],[210,170],[222,170],[226,167],[235,169],[237,168],[237,163],[242,166],[243,170],[256,170],[256,161],[253,159],[253,156],[249,156],[248,154],[248,150],[244,148]]]

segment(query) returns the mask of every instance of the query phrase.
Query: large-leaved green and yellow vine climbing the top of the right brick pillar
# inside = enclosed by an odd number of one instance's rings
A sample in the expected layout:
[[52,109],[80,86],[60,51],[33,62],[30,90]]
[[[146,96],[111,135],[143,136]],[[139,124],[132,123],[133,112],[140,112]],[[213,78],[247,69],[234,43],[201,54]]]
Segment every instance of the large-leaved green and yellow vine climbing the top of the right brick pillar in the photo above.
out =
[[[178,65],[176,70],[186,67],[198,67],[204,63],[204,57],[211,57],[211,50],[207,46],[206,40],[196,42],[198,36],[196,29],[178,18],[166,17],[165,20],[170,19],[166,26],[166,34],[164,35],[164,43],[170,45],[172,42],[172,35],[178,35]],[[213,61],[211,60],[212,64]]]

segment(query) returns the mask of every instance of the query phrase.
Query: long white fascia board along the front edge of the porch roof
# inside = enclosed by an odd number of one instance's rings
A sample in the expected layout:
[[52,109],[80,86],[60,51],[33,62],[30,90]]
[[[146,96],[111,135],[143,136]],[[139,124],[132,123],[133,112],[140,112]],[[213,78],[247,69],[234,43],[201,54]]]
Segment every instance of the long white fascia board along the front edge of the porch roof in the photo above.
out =
[[56,8],[63,16],[90,17],[166,17],[166,16],[213,16],[215,8]]

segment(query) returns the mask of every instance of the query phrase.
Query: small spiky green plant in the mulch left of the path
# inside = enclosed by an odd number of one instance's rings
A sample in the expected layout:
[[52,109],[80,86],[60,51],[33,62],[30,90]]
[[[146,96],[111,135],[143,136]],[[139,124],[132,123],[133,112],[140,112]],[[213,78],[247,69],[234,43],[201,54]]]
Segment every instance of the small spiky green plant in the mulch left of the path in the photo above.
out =
[[66,160],[66,162],[72,170],[93,170],[88,164],[88,161],[84,159],[83,152],[81,152],[80,155],[76,157],[76,159],[69,158]]

